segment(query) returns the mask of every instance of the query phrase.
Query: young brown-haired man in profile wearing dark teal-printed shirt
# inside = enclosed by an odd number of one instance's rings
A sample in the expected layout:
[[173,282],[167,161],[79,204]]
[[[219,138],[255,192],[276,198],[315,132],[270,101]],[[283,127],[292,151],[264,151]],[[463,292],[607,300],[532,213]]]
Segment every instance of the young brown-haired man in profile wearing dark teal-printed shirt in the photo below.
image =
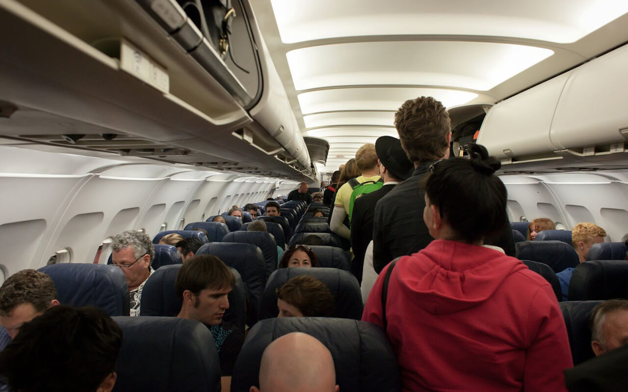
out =
[[176,317],[197,320],[214,336],[220,358],[222,391],[229,392],[237,354],[244,343],[244,331],[224,324],[222,317],[229,309],[227,295],[236,278],[219,258],[198,255],[187,260],[176,275],[176,295],[183,300]]

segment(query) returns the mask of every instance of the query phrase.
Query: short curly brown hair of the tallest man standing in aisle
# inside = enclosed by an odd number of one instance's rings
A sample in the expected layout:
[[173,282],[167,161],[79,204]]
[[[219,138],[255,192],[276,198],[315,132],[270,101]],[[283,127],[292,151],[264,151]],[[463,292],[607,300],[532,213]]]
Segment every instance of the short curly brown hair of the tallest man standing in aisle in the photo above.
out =
[[443,104],[433,97],[404,102],[394,114],[394,125],[411,162],[440,159],[449,148],[447,133],[452,123]]

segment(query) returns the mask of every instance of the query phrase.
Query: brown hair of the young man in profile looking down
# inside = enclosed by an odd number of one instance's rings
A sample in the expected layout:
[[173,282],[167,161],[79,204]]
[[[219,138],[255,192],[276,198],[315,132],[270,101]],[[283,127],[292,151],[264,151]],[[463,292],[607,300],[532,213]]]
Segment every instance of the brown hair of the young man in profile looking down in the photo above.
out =
[[197,255],[185,262],[176,274],[175,292],[182,299],[185,290],[198,295],[204,289],[230,289],[235,284],[236,277],[222,260],[214,255]]

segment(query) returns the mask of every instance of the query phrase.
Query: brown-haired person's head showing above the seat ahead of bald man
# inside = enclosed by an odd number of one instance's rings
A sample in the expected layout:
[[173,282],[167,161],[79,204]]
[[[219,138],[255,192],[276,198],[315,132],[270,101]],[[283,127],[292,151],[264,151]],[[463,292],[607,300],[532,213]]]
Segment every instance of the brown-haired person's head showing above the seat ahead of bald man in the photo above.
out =
[[277,289],[277,317],[332,317],[332,292],[310,275],[291,278]]

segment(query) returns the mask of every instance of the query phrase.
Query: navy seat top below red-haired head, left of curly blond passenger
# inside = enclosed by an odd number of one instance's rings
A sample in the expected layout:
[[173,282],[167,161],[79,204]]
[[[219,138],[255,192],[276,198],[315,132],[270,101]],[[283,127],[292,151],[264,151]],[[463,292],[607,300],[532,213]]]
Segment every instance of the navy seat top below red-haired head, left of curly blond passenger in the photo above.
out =
[[533,260],[549,265],[555,273],[580,263],[573,246],[563,241],[524,241],[514,244],[519,260]]

